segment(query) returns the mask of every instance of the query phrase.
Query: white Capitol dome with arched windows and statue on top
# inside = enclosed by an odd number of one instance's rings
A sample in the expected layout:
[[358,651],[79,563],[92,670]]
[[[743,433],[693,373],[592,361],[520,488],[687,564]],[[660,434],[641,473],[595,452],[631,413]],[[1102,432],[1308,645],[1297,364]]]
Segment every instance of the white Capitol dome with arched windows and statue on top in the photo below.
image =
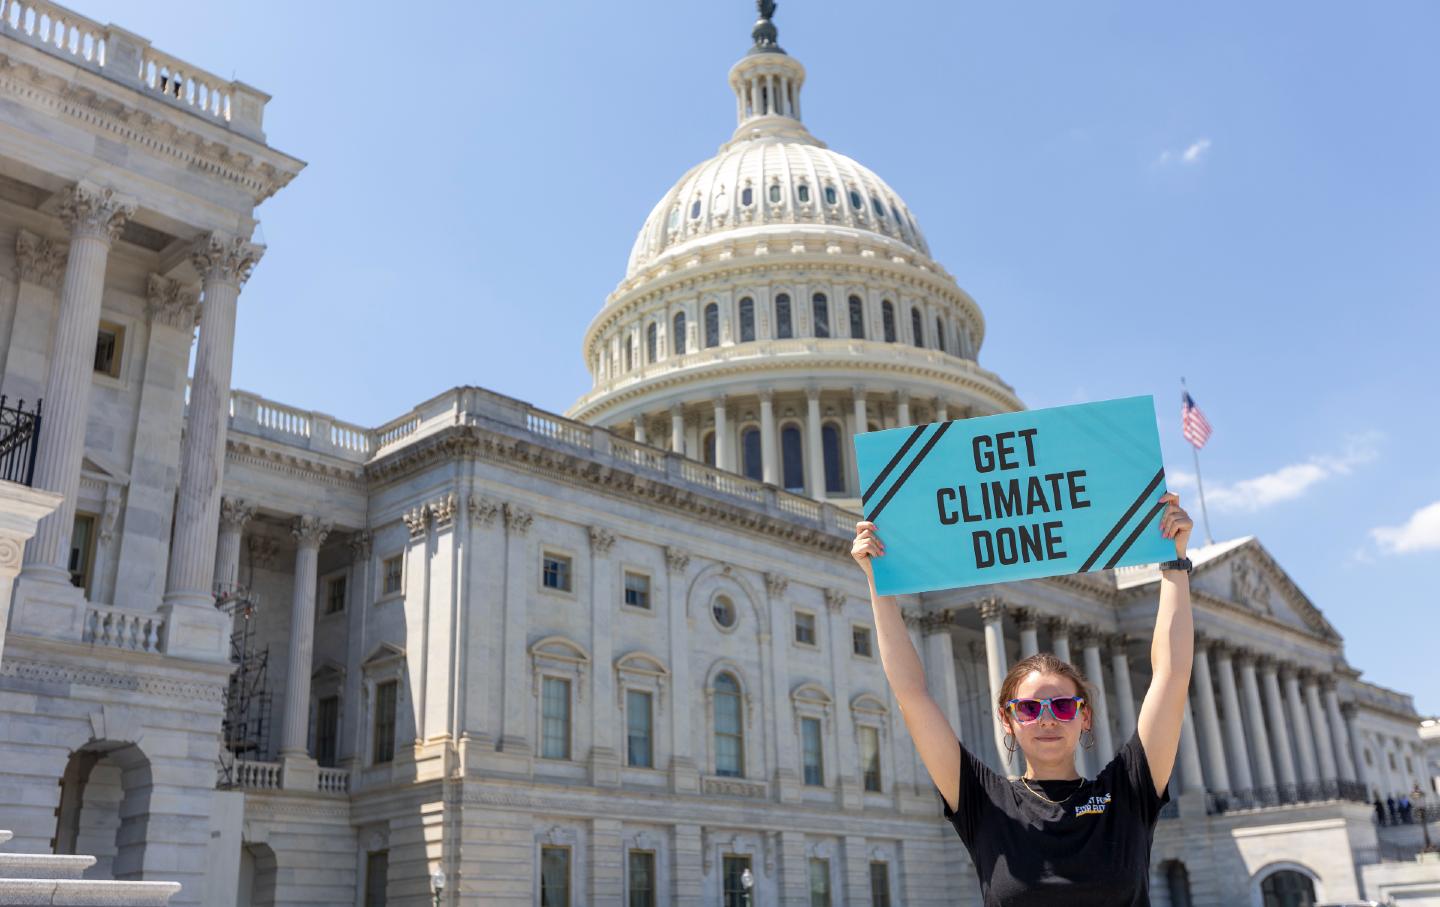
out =
[[729,73],[737,125],[645,219],[567,415],[714,466],[685,469],[736,494],[857,507],[852,435],[1022,405],[976,361],[985,317],[910,207],[802,122],[805,68],[759,7]]

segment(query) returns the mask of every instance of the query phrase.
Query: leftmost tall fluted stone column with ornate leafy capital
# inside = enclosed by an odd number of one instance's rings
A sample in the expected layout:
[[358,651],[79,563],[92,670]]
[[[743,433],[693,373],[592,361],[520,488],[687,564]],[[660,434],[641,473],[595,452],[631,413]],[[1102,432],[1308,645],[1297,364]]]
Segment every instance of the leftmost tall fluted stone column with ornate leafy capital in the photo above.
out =
[[89,181],[78,183],[60,199],[59,215],[71,229],[71,252],[60,284],[40,436],[36,439],[35,488],[53,491],[62,495],[62,501],[40,520],[30,538],[24,576],[62,586],[66,592],[72,589],[71,533],[75,528],[75,495],[81,487],[81,459],[85,456],[105,262],[111,243],[134,213],[131,199]]

